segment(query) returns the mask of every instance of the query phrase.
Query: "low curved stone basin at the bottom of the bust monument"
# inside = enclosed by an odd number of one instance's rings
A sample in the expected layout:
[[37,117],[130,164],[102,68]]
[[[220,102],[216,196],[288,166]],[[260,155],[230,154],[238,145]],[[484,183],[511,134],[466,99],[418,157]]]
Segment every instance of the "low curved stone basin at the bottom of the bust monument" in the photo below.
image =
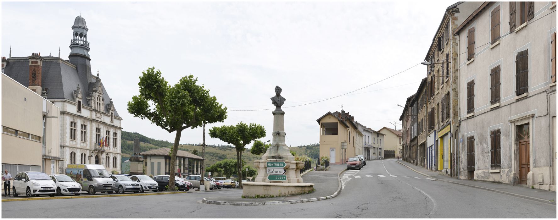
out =
[[314,191],[314,183],[242,183],[242,195],[244,197],[281,197],[310,193]]

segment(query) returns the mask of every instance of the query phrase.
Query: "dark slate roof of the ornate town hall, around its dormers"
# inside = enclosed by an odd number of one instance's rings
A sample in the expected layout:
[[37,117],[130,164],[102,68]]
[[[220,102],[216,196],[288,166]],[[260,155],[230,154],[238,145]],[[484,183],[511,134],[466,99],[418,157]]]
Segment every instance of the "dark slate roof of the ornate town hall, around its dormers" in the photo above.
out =
[[[78,76],[78,70],[75,66],[68,61],[62,60],[59,57],[42,57],[44,61],[42,62],[41,71],[41,87],[49,88],[49,92],[46,95],[47,99],[66,99],[74,100],[74,90],[79,87],[81,89],[81,95],[83,99],[81,104],[85,106],[92,107],[87,100],[88,92],[90,91],[90,82],[83,82]],[[4,74],[16,80],[23,86],[29,86],[29,59],[28,57],[11,57],[7,58],[8,64],[4,69]],[[97,76],[91,77],[93,82],[97,80]],[[108,103],[110,102],[110,97],[107,90],[103,85],[103,98],[104,98],[104,112],[108,113]],[[114,115],[118,116],[118,112],[114,110]]]

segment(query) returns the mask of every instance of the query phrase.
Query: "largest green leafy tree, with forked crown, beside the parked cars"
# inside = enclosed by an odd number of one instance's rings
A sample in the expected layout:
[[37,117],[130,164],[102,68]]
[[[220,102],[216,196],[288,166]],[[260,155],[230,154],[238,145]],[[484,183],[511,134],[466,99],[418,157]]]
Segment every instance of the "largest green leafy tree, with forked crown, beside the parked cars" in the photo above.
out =
[[[128,101],[128,112],[133,116],[148,119],[169,133],[176,131],[170,170],[176,170],[182,130],[227,119],[227,107],[219,104],[215,96],[210,96],[203,85],[196,85],[197,81],[198,78],[189,75],[171,86],[160,70],[151,67],[140,76],[140,95],[134,95],[132,101]],[[174,183],[174,179],[174,175],[170,175],[169,183]]]

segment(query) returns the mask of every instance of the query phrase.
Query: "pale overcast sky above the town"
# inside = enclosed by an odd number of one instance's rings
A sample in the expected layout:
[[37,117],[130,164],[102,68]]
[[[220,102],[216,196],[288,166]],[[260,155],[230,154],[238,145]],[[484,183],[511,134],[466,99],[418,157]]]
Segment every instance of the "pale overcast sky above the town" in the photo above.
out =
[[[299,146],[318,143],[316,120],[341,105],[369,128],[395,128],[390,122],[397,121],[401,129],[397,104],[405,105],[426,76],[419,63],[453,3],[2,2],[2,56],[10,46],[15,57],[57,56],[60,45],[67,60],[81,13],[92,71],[99,69],[122,130],[174,141],[175,133],[127,110],[142,71],[155,67],[171,85],[198,77],[228,107],[227,119],[207,130],[257,123],[266,128],[262,141],[272,139],[273,115],[261,109],[275,108],[270,97],[282,87],[286,143]],[[180,143],[201,143],[202,135],[186,129]],[[206,134],[206,144],[226,143]]]

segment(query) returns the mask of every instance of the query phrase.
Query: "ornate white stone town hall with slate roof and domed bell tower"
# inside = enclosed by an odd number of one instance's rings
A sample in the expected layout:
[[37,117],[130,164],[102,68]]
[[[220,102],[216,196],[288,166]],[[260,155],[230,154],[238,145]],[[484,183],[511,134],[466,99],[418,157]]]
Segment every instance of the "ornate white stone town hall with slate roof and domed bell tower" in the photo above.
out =
[[[122,118],[103,82],[91,71],[87,25],[75,18],[69,60],[32,53],[2,57],[2,72],[60,108],[60,150],[57,171],[68,164],[102,164],[121,172]],[[102,143],[102,144],[100,144]]]

